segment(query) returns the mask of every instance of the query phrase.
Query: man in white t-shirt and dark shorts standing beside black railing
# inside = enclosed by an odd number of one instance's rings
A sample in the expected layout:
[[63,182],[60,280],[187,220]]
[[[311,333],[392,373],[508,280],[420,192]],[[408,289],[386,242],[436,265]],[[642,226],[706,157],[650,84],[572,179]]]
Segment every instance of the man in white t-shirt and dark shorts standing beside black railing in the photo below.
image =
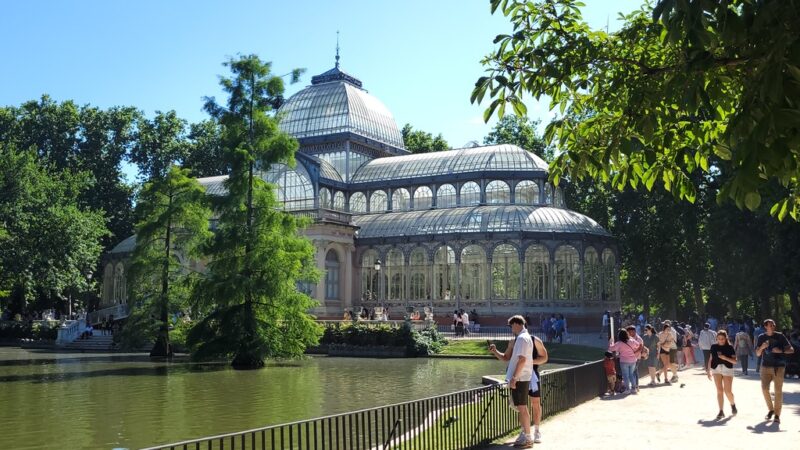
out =
[[[494,344],[489,345],[489,352],[501,361],[507,361],[506,382],[511,389],[511,401],[517,408],[519,424],[522,431],[514,441],[516,448],[533,448],[533,438],[531,437],[531,417],[528,413],[528,390],[531,382],[538,383],[538,378],[533,372],[533,340],[528,330],[525,328],[525,319],[520,316],[512,316],[508,319],[508,326],[514,334],[514,347],[510,357],[506,353],[497,351]],[[536,384],[534,384],[536,386]]]

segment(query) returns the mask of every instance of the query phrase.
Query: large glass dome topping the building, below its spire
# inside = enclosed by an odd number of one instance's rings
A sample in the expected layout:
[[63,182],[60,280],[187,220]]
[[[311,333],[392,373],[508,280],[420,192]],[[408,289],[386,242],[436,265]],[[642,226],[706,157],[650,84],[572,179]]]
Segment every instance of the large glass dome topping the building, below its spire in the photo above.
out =
[[317,75],[281,107],[281,129],[298,139],[350,132],[405,148],[392,113],[360,85],[338,68]]

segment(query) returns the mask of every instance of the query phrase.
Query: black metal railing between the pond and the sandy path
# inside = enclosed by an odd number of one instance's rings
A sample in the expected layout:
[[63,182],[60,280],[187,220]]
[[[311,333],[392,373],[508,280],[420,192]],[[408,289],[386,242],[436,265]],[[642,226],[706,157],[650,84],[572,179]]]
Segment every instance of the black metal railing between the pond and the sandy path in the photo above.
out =
[[[549,417],[605,391],[602,361],[542,375]],[[519,429],[505,385],[495,384],[396,405],[150,447],[161,449],[469,449]]]

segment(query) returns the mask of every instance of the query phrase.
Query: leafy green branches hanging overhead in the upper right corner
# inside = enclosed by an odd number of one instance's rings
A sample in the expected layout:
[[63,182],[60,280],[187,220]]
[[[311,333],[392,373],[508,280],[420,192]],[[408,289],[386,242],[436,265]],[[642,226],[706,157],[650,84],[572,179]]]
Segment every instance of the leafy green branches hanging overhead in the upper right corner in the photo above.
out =
[[593,30],[575,0],[490,0],[513,25],[484,58],[484,119],[549,97],[554,182],[656,182],[694,202],[697,170],[726,174],[719,201],[800,220],[800,3],[662,0]]

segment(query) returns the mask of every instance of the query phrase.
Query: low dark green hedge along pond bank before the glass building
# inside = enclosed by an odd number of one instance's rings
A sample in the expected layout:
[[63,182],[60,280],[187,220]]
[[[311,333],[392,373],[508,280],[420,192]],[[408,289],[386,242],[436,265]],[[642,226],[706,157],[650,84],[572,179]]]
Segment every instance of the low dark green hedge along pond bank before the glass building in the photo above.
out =
[[325,328],[320,344],[346,344],[353,346],[405,347],[408,356],[427,356],[439,353],[446,340],[435,328],[412,330],[408,324],[400,328],[388,325],[359,323]]

